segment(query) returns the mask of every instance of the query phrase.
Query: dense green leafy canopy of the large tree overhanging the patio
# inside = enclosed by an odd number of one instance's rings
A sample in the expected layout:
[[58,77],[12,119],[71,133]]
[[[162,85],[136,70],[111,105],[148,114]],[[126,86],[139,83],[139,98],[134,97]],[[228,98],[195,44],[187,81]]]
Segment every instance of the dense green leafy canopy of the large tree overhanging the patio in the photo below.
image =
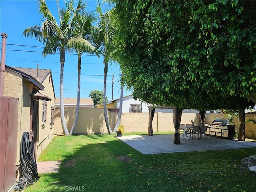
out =
[[195,109],[256,103],[255,1],[114,1],[112,58],[142,101]]

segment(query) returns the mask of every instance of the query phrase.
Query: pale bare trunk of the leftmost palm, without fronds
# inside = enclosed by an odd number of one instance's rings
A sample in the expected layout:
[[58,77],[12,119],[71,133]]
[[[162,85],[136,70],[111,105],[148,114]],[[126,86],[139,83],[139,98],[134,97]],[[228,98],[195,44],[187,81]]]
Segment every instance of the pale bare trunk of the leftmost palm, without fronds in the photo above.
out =
[[65,135],[68,135],[68,128],[65,122],[64,101],[63,101],[63,71],[65,62],[65,51],[60,50],[60,120]]

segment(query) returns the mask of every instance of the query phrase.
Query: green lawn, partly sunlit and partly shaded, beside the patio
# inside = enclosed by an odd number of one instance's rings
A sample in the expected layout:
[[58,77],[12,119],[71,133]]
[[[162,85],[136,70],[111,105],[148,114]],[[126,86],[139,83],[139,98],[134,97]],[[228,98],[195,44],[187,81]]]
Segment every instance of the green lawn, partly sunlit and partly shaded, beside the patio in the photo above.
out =
[[39,161],[61,160],[26,192],[252,192],[242,158],[256,148],[144,155],[113,135],[56,136]]

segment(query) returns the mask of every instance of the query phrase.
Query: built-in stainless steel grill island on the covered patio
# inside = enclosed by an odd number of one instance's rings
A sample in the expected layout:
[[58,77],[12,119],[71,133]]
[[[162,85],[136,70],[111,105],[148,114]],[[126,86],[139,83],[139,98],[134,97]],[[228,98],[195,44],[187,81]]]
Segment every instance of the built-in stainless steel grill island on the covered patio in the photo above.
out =
[[212,123],[206,123],[207,132],[210,136],[226,139],[236,138],[236,126],[230,125],[228,119],[215,119]]

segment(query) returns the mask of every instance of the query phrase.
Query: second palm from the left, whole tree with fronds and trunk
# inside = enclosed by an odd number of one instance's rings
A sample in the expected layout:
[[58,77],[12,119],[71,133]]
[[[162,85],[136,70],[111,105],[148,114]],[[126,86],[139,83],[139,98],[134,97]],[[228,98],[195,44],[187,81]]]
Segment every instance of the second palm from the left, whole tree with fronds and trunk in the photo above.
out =
[[[93,12],[84,13],[82,16],[78,17],[76,20],[76,27],[74,31],[74,37],[68,42],[68,46],[74,47],[76,52],[78,53],[78,84],[77,84],[77,100],[76,100],[76,110],[75,110],[75,118],[70,130],[70,135],[74,134],[76,130],[76,124],[78,122],[78,115],[79,115],[79,104],[80,104],[80,76],[81,76],[81,56],[84,52],[93,53],[91,50],[87,49],[87,46],[80,46],[77,42],[88,42],[85,40],[86,38],[90,37],[90,31],[92,27],[92,22],[96,21],[96,17],[94,16]],[[82,44],[85,45],[85,44]]]

